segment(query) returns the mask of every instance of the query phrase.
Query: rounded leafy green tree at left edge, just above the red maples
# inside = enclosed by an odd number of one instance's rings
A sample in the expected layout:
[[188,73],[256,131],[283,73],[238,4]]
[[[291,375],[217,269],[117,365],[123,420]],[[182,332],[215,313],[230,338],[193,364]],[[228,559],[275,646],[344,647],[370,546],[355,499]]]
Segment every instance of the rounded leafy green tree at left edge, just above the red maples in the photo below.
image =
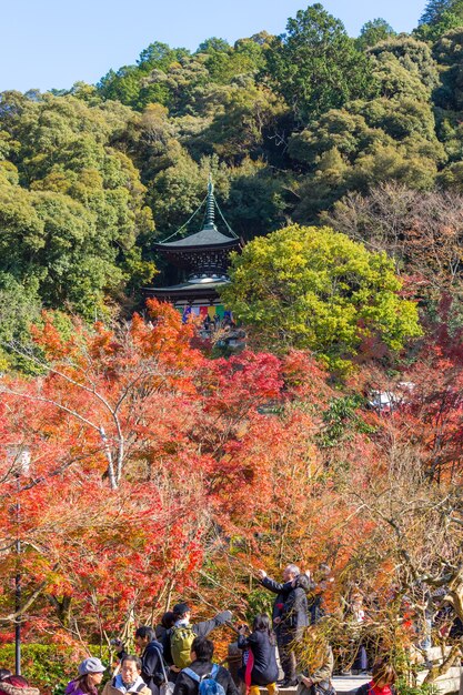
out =
[[32,283],[47,306],[92,316],[105,292],[123,284],[94,215],[70,197],[1,187],[0,221],[0,272]]

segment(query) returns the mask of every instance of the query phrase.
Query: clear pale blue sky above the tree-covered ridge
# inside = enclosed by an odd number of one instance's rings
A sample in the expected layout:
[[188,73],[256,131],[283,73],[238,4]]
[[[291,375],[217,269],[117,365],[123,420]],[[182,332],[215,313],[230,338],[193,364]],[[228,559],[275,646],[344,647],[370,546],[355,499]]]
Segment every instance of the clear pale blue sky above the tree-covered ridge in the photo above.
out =
[[[209,37],[234,42],[265,29],[282,33],[303,0],[13,0],[2,3],[0,91],[70,88],[134,63],[152,41],[194,50]],[[425,0],[325,0],[351,36],[384,18],[416,26]]]

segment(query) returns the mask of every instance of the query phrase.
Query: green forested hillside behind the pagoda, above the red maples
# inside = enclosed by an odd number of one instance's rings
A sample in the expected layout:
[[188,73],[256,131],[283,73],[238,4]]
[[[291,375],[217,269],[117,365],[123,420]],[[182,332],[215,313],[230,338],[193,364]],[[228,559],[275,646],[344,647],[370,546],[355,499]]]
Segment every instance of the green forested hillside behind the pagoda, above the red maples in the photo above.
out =
[[[41,305],[88,319],[133,308],[153,241],[193,212],[210,169],[245,240],[329,219],[371,243],[346,210],[375,226],[391,204],[406,226],[404,198],[430,218],[461,207],[462,18],[461,2],[432,0],[411,36],[375,19],[354,39],[313,4],[279,37],[212,38],[193,53],[153,41],[97,85],[2,93],[2,332]],[[425,251],[402,249],[397,269],[427,268]]]

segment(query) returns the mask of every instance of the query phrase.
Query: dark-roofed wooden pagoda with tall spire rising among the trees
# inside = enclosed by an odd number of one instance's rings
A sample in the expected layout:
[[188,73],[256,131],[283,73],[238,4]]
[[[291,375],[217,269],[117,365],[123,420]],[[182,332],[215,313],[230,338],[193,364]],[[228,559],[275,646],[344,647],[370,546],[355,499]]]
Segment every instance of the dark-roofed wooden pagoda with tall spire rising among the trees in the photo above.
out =
[[[202,229],[185,236],[181,233],[203,209]],[[227,234],[218,230],[215,210],[220,213]],[[180,239],[175,239],[180,236]],[[184,281],[165,288],[144,288],[145,298],[171,302],[183,314],[188,311],[198,315],[223,318],[219,290],[230,282],[227,273],[231,251],[242,249],[243,242],[225,221],[214,197],[214,187],[209,177],[208,194],[190,220],[168,239],[154,244],[165,260],[183,273]]]

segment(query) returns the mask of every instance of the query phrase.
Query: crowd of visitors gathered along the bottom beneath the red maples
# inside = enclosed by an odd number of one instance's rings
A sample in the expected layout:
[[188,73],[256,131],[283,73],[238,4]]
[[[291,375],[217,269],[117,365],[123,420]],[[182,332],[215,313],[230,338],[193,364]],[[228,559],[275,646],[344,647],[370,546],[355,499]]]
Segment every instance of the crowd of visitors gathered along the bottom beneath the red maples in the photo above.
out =
[[[281,582],[269,577],[263,570],[258,576],[262,586],[275,595],[271,617],[260,613],[254,616],[252,628],[246,625],[235,628],[230,611],[194,622],[190,605],[179,603],[164,613],[155,628],[138,627],[134,643],[140,656],[128,653],[121,641],[112,642],[119,663],[102,695],[258,695],[261,687],[266,688],[268,695],[276,695],[279,687],[291,686],[296,686],[296,695],[335,695],[333,649],[323,633],[314,628],[323,618],[323,596],[333,582],[330,567],[319,566],[316,582],[295,564],[283,570]],[[353,625],[365,621],[359,591],[352,592],[349,614]],[[229,625],[238,634],[236,648],[242,656],[233,675],[213,663],[214,644],[209,636],[222,625]],[[298,644],[302,641],[312,653],[310,668],[302,667],[298,656]],[[374,658],[369,672],[369,654],[362,639],[355,647],[354,673],[371,676],[356,695],[372,692],[392,695],[396,677],[393,666],[384,657]],[[105,671],[99,658],[85,658],[77,677],[68,684],[66,695],[99,695]],[[283,677],[279,679],[281,672]],[[21,676],[0,669],[0,695],[39,695],[39,691]]]

